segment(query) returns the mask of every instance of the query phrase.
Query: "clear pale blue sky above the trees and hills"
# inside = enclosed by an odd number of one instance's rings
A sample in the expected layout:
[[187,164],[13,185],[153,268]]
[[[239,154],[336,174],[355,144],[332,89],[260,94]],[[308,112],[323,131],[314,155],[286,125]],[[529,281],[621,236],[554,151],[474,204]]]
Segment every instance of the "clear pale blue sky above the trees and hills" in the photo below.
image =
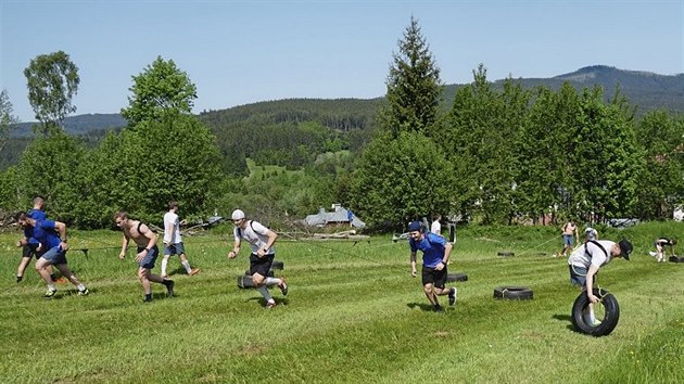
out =
[[385,93],[418,20],[445,84],[553,77],[601,64],[684,73],[683,0],[0,0],[0,76],[33,121],[23,71],[62,50],[78,66],[75,115],[118,113],[157,55],[198,87],[194,113],[289,98]]

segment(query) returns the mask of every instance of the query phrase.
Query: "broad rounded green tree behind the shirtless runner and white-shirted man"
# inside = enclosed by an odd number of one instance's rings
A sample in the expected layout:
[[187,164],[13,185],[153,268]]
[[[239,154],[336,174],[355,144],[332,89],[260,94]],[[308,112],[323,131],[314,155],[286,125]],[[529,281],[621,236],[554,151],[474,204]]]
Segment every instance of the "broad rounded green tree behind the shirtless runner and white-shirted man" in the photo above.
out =
[[201,214],[212,188],[223,178],[215,137],[192,115],[173,111],[160,120],[125,129],[121,146],[110,145],[117,171],[117,204],[152,222],[160,220],[168,201],[176,200],[186,215]]

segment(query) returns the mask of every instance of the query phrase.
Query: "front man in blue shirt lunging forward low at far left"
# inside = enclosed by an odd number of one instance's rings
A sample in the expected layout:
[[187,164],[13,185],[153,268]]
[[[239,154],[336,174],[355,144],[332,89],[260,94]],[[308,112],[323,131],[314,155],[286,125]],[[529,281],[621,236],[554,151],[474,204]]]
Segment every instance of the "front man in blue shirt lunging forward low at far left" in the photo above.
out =
[[88,289],[76,278],[66,264],[66,252],[68,251],[66,225],[48,219],[38,221],[25,212],[16,215],[16,221],[23,228],[33,229],[33,236],[28,241],[29,243],[38,244],[37,251],[40,254],[40,258],[36,260],[36,270],[48,284],[48,291],[43,297],[52,298],[56,293],[56,287],[47,268],[48,266],[55,266],[62,276],[76,285],[79,296],[87,295],[89,293]]

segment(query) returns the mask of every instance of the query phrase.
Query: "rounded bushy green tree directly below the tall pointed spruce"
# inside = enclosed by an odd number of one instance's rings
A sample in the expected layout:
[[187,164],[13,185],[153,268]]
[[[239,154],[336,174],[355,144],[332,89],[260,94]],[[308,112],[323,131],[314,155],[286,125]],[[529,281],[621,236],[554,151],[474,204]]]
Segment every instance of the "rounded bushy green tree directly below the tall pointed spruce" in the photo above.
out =
[[372,228],[452,212],[453,170],[434,142],[416,132],[378,135],[354,171],[350,207]]

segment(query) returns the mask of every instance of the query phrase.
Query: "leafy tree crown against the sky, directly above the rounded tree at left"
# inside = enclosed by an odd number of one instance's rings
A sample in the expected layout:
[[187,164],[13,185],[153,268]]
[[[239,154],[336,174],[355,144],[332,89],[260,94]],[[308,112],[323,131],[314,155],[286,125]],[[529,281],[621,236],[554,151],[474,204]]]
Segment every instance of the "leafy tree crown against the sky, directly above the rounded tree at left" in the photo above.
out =
[[190,114],[198,98],[197,87],[188,75],[173,60],[165,61],[162,56],[132,76],[132,81],[128,89],[132,92],[129,105],[122,108],[122,116],[131,128],[142,121],[161,120],[167,111]]

